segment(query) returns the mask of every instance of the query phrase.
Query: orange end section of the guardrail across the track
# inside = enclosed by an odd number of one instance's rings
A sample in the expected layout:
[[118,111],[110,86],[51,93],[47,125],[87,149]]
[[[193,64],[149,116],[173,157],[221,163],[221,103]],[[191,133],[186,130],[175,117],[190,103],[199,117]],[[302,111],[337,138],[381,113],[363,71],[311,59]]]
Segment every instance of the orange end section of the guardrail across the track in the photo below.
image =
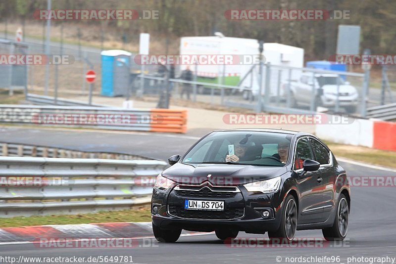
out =
[[152,132],[187,132],[187,110],[151,109],[150,131]]

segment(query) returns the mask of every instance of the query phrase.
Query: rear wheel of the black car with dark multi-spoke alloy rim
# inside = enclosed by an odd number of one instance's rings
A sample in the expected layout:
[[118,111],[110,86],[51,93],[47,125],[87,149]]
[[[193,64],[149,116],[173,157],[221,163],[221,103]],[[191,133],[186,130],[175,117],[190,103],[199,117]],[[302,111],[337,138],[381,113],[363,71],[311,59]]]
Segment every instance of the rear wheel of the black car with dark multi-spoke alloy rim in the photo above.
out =
[[337,214],[332,227],[322,229],[327,241],[344,240],[348,231],[349,207],[344,194],[340,195],[337,205]]

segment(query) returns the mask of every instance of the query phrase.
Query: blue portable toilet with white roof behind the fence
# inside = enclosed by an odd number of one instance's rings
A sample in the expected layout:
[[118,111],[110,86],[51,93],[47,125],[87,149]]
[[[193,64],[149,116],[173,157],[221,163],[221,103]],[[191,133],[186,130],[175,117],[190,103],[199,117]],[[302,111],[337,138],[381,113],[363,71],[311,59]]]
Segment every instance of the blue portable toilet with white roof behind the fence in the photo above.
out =
[[111,49],[100,52],[102,61],[101,95],[126,95],[129,88],[132,53]]

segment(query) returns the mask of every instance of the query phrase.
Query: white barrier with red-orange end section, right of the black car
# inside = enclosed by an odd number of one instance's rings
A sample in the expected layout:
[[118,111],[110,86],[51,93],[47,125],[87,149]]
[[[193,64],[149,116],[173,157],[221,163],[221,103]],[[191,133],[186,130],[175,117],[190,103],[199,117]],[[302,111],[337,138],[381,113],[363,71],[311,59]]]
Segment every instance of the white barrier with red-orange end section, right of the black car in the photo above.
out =
[[316,125],[315,134],[335,143],[396,151],[394,122],[356,118],[348,124]]

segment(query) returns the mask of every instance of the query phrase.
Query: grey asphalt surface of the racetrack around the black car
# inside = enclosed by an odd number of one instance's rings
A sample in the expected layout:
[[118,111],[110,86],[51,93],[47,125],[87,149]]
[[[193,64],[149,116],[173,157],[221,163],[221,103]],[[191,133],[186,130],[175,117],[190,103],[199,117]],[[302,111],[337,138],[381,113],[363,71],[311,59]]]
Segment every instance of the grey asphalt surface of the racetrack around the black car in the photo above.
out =
[[[201,135],[205,134],[202,132]],[[1,128],[1,141],[76,148],[87,151],[114,151],[166,160],[183,154],[199,135],[160,133],[105,133]],[[17,140],[17,142],[15,142]],[[99,142],[99,143],[98,143]],[[43,143],[43,144],[41,144]],[[340,161],[348,176],[396,176],[379,170]],[[214,234],[183,236],[174,244],[158,243],[152,238],[135,248],[38,248],[33,244],[0,245],[0,257],[85,257],[131,256],[118,263],[291,263],[287,257],[337,257],[334,261],[310,263],[347,263],[348,257],[396,257],[395,186],[351,187],[351,212],[345,243],[319,243],[309,246],[234,246],[225,245]],[[267,239],[267,235],[241,232],[238,239]],[[297,239],[322,239],[320,230],[297,231]],[[144,244],[146,243],[146,244]],[[299,246],[298,246],[299,245]],[[308,246],[308,247],[307,247]],[[281,257],[281,259],[279,258]],[[280,260],[280,262],[277,261]],[[296,261],[301,262],[301,261]],[[1,262],[7,263],[7,262]],[[30,262],[38,263],[38,262]],[[60,262],[61,263],[61,262]],[[110,262],[106,262],[110,263]],[[308,263],[305,261],[302,263]],[[358,263],[356,260],[354,263]],[[364,263],[364,262],[363,262]],[[392,262],[391,262],[392,263]]]

